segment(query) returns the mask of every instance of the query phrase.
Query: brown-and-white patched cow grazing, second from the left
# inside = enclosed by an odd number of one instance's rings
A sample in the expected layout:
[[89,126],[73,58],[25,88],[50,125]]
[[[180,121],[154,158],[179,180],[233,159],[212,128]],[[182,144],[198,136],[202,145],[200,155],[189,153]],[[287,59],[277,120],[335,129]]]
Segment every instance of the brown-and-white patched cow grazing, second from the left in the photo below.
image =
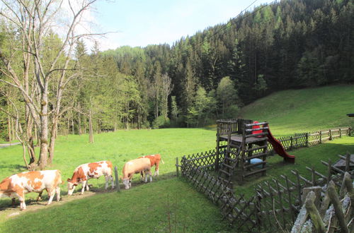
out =
[[98,179],[101,176],[105,176],[105,189],[108,188],[109,181],[112,182],[112,189],[114,189],[112,167],[113,165],[110,161],[91,162],[76,167],[74,174],[72,174],[72,179],[67,179],[67,194],[71,196],[79,183],[82,183],[81,194],[84,194],[85,187],[86,191],[89,191],[89,179]]

